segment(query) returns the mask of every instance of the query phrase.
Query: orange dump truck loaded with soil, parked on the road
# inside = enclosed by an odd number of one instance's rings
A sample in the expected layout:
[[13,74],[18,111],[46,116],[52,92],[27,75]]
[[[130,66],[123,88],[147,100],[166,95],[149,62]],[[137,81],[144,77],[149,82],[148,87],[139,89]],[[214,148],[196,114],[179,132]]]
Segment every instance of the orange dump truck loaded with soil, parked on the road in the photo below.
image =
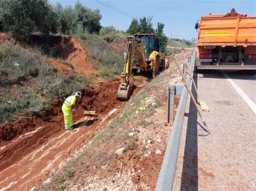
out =
[[196,71],[203,69],[256,71],[256,17],[235,12],[200,18]]

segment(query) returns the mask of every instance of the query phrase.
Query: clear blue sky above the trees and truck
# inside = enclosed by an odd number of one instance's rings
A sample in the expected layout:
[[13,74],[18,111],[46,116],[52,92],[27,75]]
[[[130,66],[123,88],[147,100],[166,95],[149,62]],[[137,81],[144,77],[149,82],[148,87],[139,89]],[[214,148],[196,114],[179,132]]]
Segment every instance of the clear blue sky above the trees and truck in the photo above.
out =
[[[256,17],[256,0],[79,0],[83,5],[91,9],[99,9],[102,15],[102,26],[113,25],[118,30],[126,31],[133,18],[153,16],[153,27],[157,23],[164,23],[164,33],[169,38],[191,40],[197,37],[194,24],[197,20],[208,13],[218,14],[235,11]],[[52,5],[61,3],[63,6],[74,6],[77,0],[48,0]]]

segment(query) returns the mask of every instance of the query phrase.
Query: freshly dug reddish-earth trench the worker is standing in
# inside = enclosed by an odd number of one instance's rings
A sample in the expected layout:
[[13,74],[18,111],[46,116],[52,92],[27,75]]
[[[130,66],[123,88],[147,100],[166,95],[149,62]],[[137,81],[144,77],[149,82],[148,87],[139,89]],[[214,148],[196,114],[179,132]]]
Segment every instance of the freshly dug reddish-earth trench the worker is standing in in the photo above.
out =
[[[23,124],[1,125],[0,188],[29,189],[95,136],[107,124],[107,120],[102,123],[102,119],[114,108],[119,110],[112,117],[117,115],[122,109],[120,105],[125,103],[117,99],[118,86],[119,81],[110,81],[102,82],[95,88],[81,89],[84,95],[82,103],[73,112],[74,121],[79,120],[80,125],[72,131],[64,130],[61,105],[54,108],[56,116],[46,116],[50,118],[49,122],[30,116],[31,120],[23,119]],[[95,110],[98,116],[85,117],[84,110]],[[24,130],[26,126],[28,128]],[[16,136],[12,135],[14,132]]]

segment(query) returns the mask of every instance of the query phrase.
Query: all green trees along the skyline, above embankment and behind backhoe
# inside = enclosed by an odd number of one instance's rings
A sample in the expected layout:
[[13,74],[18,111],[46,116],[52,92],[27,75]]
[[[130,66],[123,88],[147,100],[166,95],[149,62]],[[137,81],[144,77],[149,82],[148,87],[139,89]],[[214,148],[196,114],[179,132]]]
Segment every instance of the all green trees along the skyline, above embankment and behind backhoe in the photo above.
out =
[[[92,10],[79,1],[75,6],[63,7],[60,3],[53,6],[47,0],[0,0],[0,31],[10,32],[17,38],[20,35],[29,37],[33,32],[42,32],[46,36],[50,33],[99,34],[104,28],[100,19],[99,9]],[[167,37],[163,30],[163,23],[158,23],[157,29],[153,29],[152,17],[142,17],[132,19],[125,33],[153,32],[159,37],[160,52],[164,52]]]

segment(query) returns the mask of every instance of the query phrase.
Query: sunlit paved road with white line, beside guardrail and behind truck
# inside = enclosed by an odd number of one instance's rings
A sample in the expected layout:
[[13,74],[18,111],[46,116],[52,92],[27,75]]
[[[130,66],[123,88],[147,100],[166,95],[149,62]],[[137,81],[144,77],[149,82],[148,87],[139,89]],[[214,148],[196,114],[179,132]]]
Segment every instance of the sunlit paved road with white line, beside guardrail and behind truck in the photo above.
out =
[[198,136],[202,123],[188,98],[173,189],[255,190],[255,75],[216,71],[194,80],[211,135]]

